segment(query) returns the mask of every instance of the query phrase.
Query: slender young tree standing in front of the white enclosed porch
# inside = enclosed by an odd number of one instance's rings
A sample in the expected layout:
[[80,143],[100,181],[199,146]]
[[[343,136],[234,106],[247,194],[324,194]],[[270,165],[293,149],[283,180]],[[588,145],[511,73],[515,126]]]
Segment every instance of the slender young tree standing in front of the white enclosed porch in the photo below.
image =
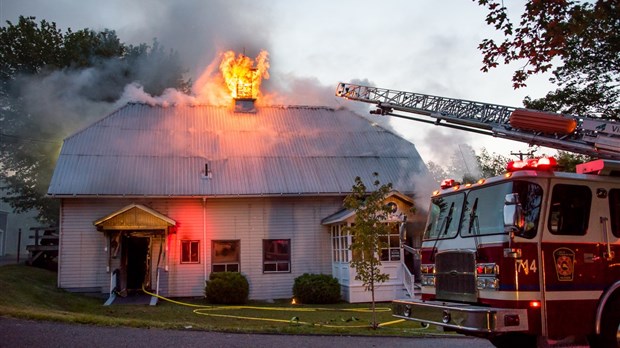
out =
[[[379,174],[374,173],[375,178]],[[381,273],[381,259],[379,252],[383,242],[381,236],[389,233],[389,227],[385,223],[391,208],[384,200],[392,190],[392,184],[381,185],[379,180],[373,183],[374,190],[367,192],[366,185],[360,177],[355,178],[355,185],[351,193],[344,199],[344,207],[355,211],[355,224],[347,226],[345,232],[352,235],[351,267],[356,271],[355,279],[362,281],[366,291],[370,291],[372,301],[373,329],[378,327],[375,313],[375,285],[384,283],[389,275]]]

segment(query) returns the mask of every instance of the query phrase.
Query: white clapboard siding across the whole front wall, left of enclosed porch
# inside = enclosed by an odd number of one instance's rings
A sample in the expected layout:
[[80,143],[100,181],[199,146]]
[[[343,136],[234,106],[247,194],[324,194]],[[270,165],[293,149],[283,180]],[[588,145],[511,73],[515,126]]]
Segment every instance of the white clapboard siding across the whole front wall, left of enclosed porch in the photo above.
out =
[[[93,221],[129,204],[142,204],[177,222],[168,238],[167,259],[160,267],[166,296],[203,296],[211,272],[211,241],[239,240],[241,273],[250,283],[250,298],[286,298],[295,277],[331,274],[331,244],[321,220],[338,210],[343,197],[187,198],[187,199],[64,199],[62,206],[59,286],[109,291],[107,240]],[[206,239],[204,236],[206,235]],[[263,273],[263,240],[291,240],[291,272]],[[181,264],[181,241],[200,241],[200,262]],[[156,281],[159,239],[151,242],[151,277]],[[118,259],[112,260],[113,270]]]

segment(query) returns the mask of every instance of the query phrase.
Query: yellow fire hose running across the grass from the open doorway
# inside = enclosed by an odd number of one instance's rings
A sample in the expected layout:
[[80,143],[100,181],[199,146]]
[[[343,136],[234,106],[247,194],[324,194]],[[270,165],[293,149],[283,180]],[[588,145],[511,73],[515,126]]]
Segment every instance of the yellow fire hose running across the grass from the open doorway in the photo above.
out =
[[[160,296],[154,293],[147,291],[144,286],[142,286],[142,291],[150,296],[154,296],[163,301],[167,301],[170,303],[174,303],[177,305],[195,308],[193,312],[198,315],[205,315],[210,317],[220,317],[220,318],[231,318],[231,319],[243,319],[243,320],[256,320],[256,321],[269,321],[269,322],[277,322],[277,323],[288,323],[295,325],[308,325],[308,326],[320,326],[320,327],[328,327],[328,328],[365,328],[368,325],[332,325],[332,324],[321,324],[321,323],[311,323],[306,321],[300,321],[298,317],[293,317],[292,319],[274,319],[274,318],[261,318],[261,317],[248,317],[248,316],[239,316],[239,315],[230,315],[230,314],[219,314],[212,313],[213,311],[224,311],[224,310],[239,310],[239,309],[253,309],[253,310],[265,310],[265,311],[290,311],[290,312],[356,312],[356,313],[370,313],[372,309],[368,308],[291,308],[291,307],[259,307],[259,306],[203,306],[197,305],[193,303],[186,303],[181,301],[176,301],[164,296]],[[377,312],[389,312],[390,309],[387,307],[377,307],[375,308]],[[384,323],[379,323],[379,327],[384,327],[388,325],[394,325],[398,323],[404,322],[404,319],[392,320]],[[422,330],[426,329],[426,327],[422,327]]]

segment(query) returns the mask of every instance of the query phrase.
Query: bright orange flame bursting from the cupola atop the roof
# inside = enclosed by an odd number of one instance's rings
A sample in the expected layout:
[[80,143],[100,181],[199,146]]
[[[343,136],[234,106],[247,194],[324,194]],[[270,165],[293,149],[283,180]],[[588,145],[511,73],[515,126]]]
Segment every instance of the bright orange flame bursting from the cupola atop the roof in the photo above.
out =
[[243,54],[235,57],[235,52],[222,54],[220,71],[233,98],[256,99],[260,95],[260,84],[269,79],[269,53],[260,51],[254,61]]

